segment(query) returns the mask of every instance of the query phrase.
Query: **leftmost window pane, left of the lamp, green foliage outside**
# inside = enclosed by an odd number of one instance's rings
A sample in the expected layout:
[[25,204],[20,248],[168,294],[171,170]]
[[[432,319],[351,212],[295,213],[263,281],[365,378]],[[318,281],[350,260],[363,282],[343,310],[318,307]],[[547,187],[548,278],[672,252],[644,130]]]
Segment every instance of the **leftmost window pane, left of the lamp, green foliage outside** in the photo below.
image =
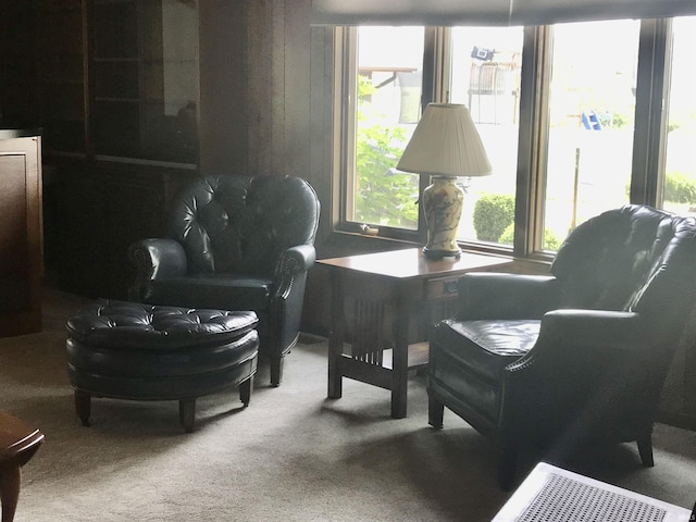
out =
[[423,33],[358,29],[349,221],[418,229],[419,176],[395,167],[421,114]]

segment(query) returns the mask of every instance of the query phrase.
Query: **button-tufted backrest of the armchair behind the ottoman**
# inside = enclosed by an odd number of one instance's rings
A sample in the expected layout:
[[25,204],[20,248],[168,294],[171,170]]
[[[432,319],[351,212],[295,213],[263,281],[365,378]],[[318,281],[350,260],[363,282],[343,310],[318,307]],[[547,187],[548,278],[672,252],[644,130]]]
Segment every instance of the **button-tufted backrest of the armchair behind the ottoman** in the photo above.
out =
[[174,201],[167,235],[184,246],[189,273],[272,276],[284,250],[314,244],[319,211],[298,177],[208,176]]

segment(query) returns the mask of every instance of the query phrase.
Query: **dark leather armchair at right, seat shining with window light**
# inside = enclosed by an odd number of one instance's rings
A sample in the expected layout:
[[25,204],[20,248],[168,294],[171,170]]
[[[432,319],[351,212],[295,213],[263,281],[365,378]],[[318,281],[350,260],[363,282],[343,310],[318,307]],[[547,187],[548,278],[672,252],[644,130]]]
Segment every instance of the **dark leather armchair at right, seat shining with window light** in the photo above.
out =
[[430,423],[444,407],[489,437],[498,481],[522,449],[563,459],[588,443],[637,442],[652,423],[696,296],[696,222],[626,206],[577,226],[549,275],[470,273],[431,335]]

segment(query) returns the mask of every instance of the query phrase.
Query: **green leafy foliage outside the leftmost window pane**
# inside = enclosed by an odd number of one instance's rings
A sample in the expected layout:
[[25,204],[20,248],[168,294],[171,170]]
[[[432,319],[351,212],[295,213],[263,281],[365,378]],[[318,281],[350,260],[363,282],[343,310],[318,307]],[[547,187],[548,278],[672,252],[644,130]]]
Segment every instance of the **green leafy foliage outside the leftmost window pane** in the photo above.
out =
[[390,124],[373,107],[376,88],[358,82],[356,136],[356,220],[387,226],[418,227],[418,175],[396,171],[407,141],[406,128]]

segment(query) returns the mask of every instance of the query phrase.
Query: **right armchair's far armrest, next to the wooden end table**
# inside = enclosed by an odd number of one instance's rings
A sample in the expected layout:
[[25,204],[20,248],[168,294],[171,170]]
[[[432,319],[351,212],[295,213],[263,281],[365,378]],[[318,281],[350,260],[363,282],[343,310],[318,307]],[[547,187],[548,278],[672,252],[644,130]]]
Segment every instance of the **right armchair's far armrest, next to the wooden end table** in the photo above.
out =
[[552,275],[471,272],[459,279],[457,318],[540,319],[558,307],[559,297]]

